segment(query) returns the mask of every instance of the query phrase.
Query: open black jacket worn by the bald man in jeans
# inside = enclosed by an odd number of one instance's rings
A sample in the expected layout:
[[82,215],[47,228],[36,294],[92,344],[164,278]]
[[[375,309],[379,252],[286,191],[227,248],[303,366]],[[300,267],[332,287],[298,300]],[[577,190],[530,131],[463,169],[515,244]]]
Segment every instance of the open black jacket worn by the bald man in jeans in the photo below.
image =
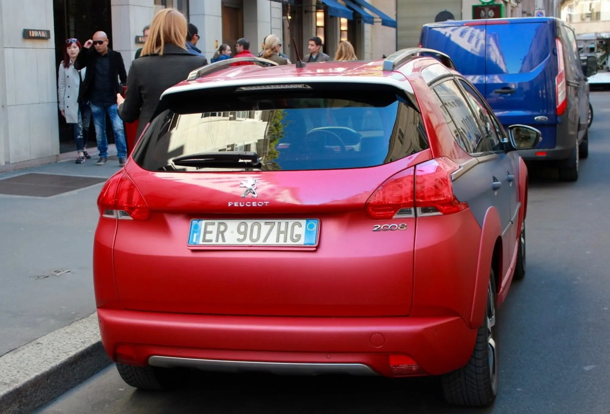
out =
[[[89,49],[82,48],[76,58],[76,62],[74,62],[74,68],[77,70],[87,68],[85,79],[83,79],[81,89],[79,90],[79,102],[87,101],[87,95],[93,85],[93,78],[95,78],[95,63],[98,56],[99,54],[93,46]],[[123,63],[123,56],[121,56],[119,52],[109,48],[108,59],[110,59],[110,84],[112,85],[112,90],[115,94],[123,93],[123,88],[121,88],[121,85],[118,83],[119,79],[121,79],[121,84],[123,85],[127,82],[127,73],[125,71],[125,64]]]

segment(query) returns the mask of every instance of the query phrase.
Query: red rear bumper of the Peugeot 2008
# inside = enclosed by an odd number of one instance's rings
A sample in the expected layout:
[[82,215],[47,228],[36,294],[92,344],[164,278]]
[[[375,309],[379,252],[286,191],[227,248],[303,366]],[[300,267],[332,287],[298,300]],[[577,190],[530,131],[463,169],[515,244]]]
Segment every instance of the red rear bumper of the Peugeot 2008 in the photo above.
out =
[[464,366],[476,340],[476,329],[458,316],[295,318],[101,308],[98,318],[110,359],[140,366],[395,376],[389,355],[406,355],[420,374],[438,375]]

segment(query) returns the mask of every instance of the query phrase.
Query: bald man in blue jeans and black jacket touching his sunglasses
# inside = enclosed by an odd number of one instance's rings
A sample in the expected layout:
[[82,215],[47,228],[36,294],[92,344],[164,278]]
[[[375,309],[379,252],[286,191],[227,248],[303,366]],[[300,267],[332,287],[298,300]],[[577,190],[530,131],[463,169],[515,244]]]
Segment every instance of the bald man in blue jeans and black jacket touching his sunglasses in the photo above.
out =
[[[91,49],[93,46],[93,49]],[[117,93],[122,93],[121,84],[127,83],[127,73],[123,57],[108,47],[108,37],[104,32],[96,32],[93,39],[87,40],[81,49],[74,67],[87,68],[85,79],[79,91],[79,102],[91,102],[93,125],[98,138],[99,160],[96,165],[108,162],[108,138],[106,137],[106,113],[110,115],[115,135],[118,162],[127,162],[127,146],[123,121],[117,112]],[[119,79],[121,83],[119,84]]]

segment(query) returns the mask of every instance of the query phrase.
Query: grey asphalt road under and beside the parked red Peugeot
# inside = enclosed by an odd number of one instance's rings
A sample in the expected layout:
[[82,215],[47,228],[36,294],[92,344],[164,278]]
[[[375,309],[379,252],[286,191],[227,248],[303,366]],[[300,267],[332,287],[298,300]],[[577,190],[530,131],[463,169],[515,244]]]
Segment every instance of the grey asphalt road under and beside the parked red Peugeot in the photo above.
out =
[[41,413],[610,413],[610,93],[591,99],[590,156],[578,182],[531,172],[528,268],[499,312],[493,407],[448,407],[434,378],[193,373],[186,390],[146,393],[110,367]]

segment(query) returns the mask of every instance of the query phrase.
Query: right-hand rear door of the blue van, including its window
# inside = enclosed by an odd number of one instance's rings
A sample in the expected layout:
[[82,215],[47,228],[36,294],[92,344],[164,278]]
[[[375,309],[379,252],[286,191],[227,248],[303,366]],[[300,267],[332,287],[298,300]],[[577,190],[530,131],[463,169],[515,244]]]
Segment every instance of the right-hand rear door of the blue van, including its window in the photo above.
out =
[[537,148],[554,148],[558,73],[554,21],[487,22],[484,91],[487,102],[504,127],[511,124],[536,127],[542,132]]

